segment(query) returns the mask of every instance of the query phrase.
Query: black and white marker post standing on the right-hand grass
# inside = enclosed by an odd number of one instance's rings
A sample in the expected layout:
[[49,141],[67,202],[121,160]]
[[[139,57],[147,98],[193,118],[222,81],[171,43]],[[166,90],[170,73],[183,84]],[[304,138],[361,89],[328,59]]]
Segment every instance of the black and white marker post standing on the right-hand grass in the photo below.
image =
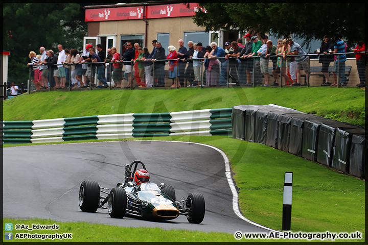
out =
[[292,201],[292,172],[285,172],[283,199],[283,231],[290,230]]

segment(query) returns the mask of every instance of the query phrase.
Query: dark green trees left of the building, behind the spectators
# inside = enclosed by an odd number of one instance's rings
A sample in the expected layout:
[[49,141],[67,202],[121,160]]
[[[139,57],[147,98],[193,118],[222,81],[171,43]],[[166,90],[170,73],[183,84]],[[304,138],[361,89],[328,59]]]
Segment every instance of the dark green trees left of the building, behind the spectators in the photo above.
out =
[[4,3],[3,50],[10,51],[9,80],[28,78],[30,51],[39,53],[44,46],[56,53],[57,45],[82,50],[87,34],[84,11],[74,3]]

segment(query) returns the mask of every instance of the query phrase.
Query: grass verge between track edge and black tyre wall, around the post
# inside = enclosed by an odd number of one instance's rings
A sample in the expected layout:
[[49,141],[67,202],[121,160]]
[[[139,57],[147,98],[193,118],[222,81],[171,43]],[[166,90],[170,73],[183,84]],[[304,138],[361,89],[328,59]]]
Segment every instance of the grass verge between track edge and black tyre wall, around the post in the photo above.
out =
[[[363,234],[363,238],[355,241],[365,239],[365,182],[363,180],[336,173],[333,169],[262,144],[223,136],[154,137],[152,139],[199,142],[213,145],[224,151],[231,162],[235,184],[240,189],[241,212],[256,223],[281,230],[284,174],[285,171],[293,171],[292,232],[353,233],[359,231]],[[188,236],[186,241],[193,236],[188,231],[180,231],[180,233],[184,237]],[[134,235],[131,232],[127,234]],[[159,240],[159,237],[162,237],[160,232],[156,232],[156,236],[155,238],[153,235],[150,241],[170,240]],[[180,235],[175,234],[175,237],[178,238],[176,241],[183,241],[180,240]],[[196,235],[195,237],[198,238]],[[223,234],[223,237],[227,239],[226,241],[236,241],[233,235],[229,237],[228,234]],[[86,239],[85,236],[84,238]],[[217,238],[200,241],[222,240]],[[262,239],[262,241],[267,240]]]

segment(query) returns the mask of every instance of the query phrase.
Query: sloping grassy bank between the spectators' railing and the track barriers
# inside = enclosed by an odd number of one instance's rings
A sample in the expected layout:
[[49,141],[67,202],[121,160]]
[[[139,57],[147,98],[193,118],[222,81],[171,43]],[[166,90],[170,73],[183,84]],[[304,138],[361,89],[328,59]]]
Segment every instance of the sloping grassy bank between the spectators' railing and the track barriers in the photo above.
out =
[[277,104],[364,125],[364,90],[357,88],[181,88],[51,91],[7,100],[4,120],[36,120],[118,113],[173,112]]

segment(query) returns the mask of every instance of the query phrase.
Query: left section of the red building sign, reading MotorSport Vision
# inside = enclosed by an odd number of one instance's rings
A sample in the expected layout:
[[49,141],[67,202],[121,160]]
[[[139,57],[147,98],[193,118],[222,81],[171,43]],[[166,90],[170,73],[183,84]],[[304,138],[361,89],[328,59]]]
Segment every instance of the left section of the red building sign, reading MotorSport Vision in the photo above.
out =
[[86,9],[85,21],[143,19],[144,6]]

